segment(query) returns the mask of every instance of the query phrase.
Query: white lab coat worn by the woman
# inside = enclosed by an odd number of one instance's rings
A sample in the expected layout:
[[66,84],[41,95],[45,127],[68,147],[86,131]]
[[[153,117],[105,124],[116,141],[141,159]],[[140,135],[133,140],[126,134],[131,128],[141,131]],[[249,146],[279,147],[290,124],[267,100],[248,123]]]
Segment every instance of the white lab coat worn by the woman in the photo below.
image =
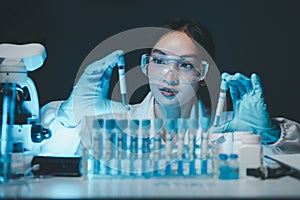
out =
[[[92,120],[95,117],[87,117],[75,128],[66,128],[57,120],[57,110],[63,101],[53,101],[41,108],[41,123],[45,128],[52,132],[48,140],[41,143],[41,152],[53,155],[74,155],[78,154],[80,149],[81,137],[83,132],[92,130]],[[204,116],[205,108],[201,101],[195,102],[192,106],[189,116],[197,118]],[[135,105],[130,105],[130,111],[127,113],[128,119],[154,119],[154,97],[151,92],[145,99]],[[300,152],[300,124],[286,118],[273,118],[281,128],[280,139],[267,148],[273,153],[294,153]],[[84,129],[84,130],[83,130]],[[150,135],[151,137],[151,135]],[[80,153],[80,152],[79,152]]]

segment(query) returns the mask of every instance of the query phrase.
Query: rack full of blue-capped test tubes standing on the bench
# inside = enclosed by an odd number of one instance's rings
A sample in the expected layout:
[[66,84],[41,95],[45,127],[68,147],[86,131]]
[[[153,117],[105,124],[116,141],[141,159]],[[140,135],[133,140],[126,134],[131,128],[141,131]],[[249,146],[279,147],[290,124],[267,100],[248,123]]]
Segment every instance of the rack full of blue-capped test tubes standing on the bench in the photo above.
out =
[[[196,141],[200,130],[198,119],[149,120],[124,117],[124,119],[94,120],[94,132],[104,131],[103,154],[99,154],[102,155],[100,172],[94,167],[94,175],[122,178],[201,177],[203,175],[206,178],[213,177],[214,159],[212,154],[207,152],[204,157],[206,165],[205,167],[203,165],[205,170],[200,170],[201,149]],[[205,124],[201,125],[201,129],[207,132],[208,127],[209,119],[207,118]],[[115,135],[115,133],[117,134]],[[164,133],[165,143],[163,145]],[[153,138],[150,139],[150,136]],[[99,145],[97,142],[93,144]],[[117,154],[115,154],[115,148],[118,149]],[[93,149],[95,152],[95,149],[101,149],[101,147]],[[83,162],[88,161],[87,158],[84,156]],[[116,165],[116,163],[118,164]],[[198,164],[196,165],[196,163]],[[88,170],[87,167],[85,168]]]

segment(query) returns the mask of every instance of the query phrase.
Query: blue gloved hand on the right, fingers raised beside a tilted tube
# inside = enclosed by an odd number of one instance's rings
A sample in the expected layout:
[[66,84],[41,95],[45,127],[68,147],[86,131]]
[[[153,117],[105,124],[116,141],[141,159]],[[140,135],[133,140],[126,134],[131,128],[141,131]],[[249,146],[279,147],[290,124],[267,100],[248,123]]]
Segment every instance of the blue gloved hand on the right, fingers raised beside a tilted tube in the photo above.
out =
[[229,87],[233,118],[220,126],[211,127],[210,132],[251,131],[260,134],[263,143],[276,142],[280,129],[271,122],[258,75],[252,74],[250,79],[240,73],[223,73],[222,78]]

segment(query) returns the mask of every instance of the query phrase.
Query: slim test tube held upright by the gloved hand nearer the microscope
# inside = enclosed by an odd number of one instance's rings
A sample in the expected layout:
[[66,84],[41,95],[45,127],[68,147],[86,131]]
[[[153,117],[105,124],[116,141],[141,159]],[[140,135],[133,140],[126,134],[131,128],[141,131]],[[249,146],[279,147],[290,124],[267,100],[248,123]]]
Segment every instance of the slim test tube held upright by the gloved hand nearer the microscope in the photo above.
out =
[[125,106],[125,108],[129,110],[124,56],[119,57],[118,73],[119,73],[119,82],[120,82],[120,93],[122,96],[122,104],[123,106]]

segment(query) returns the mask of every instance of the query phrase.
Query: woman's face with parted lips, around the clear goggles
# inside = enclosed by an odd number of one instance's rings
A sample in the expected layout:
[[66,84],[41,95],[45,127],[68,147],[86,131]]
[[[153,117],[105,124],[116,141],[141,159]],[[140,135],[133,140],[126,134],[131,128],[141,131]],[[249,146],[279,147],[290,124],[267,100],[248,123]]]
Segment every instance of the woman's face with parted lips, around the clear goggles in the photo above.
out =
[[[165,107],[176,107],[187,103],[199,88],[199,81],[192,81],[190,76],[182,76],[185,72],[178,71],[176,58],[193,60],[198,57],[199,51],[192,39],[182,32],[172,32],[164,35],[154,46],[151,55],[175,58],[163,69],[148,68],[149,85],[156,101]],[[153,61],[153,62],[160,62]],[[179,61],[180,63],[180,61]]]

